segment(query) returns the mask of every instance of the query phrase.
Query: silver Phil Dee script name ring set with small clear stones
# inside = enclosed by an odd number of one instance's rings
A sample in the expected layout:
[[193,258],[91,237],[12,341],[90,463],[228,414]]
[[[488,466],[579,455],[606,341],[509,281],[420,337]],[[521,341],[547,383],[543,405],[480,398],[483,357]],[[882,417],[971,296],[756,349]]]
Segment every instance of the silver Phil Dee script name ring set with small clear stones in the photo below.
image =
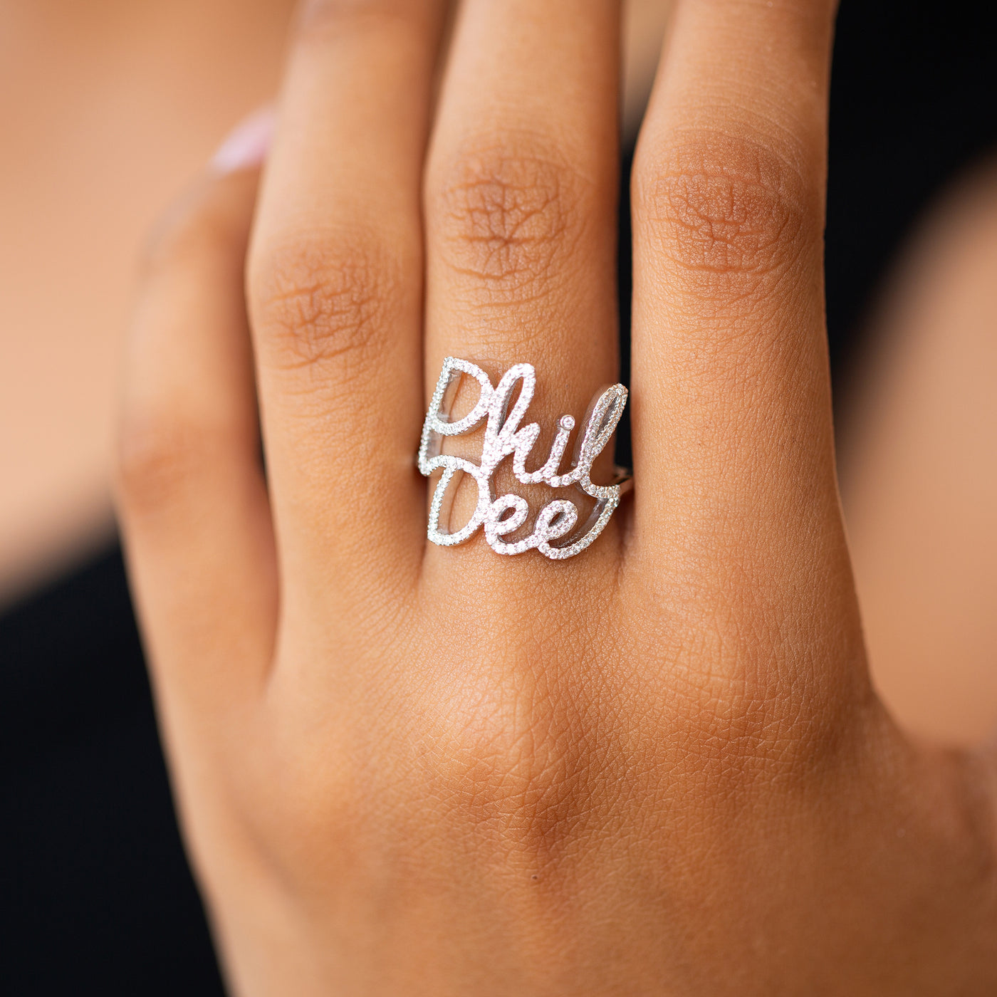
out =
[[[451,422],[450,410],[464,375],[473,377],[478,382],[481,395],[468,415]],[[516,385],[520,381],[522,384],[518,398],[510,407]],[[430,503],[427,536],[433,543],[440,546],[464,543],[482,526],[489,545],[496,553],[521,554],[535,547],[544,557],[564,560],[581,553],[605,528],[619,504],[620,496],[631,484],[630,477],[617,469],[616,480],[611,485],[593,485],[589,476],[593,462],[609,443],[623,415],[626,388],[621,384],[614,384],[595,396],[589,406],[584,432],[575,447],[571,470],[561,474],[560,463],[568,437],[574,429],[574,419],[571,416],[561,416],[550,455],[543,467],[536,471],[526,471],[526,459],[539,436],[540,427],[537,423],[526,426],[520,426],[519,423],[526,414],[535,387],[536,373],[531,364],[515,364],[510,367],[502,375],[498,387],[495,387],[488,374],[477,364],[456,357],[447,357],[444,361],[429,412],[426,413],[419,444],[420,472],[428,478],[438,469],[443,469]],[[486,420],[481,464],[441,453],[444,437],[470,433]],[[554,498],[537,512],[533,531],[529,536],[514,541],[502,539],[518,529],[529,514],[525,498],[512,494],[496,498],[494,494],[492,476],[498,463],[509,455],[512,457],[512,473],[523,485],[543,484],[552,489],[573,486],[594,498],[595,505],[585,522],[580,527],[577,526],[578,508],[574,502]],[[468,522],[451,533],[441,526],[441,520],[449,521],[454,496],[463,475],[471,475],[475,479],[478,485],[478,504]]]

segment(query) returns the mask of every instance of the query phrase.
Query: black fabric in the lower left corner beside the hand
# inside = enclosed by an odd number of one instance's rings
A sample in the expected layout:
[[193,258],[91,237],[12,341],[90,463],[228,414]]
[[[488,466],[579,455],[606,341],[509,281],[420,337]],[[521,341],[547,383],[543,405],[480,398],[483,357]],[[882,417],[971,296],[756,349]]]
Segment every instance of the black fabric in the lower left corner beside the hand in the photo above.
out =
[[121,553],[0,619],[0,993],[213,997]]

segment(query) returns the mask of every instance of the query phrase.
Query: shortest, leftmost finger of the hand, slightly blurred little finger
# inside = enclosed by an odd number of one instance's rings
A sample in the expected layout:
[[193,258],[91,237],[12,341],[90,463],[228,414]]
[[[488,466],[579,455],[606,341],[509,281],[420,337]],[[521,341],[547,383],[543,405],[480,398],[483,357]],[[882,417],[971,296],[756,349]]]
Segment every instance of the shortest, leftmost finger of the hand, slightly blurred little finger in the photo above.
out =
[[273,645],[273,535],[242,280],[256,177],[211,175],[173,211],[129,344],[119,509],[167,713],[244,699]]

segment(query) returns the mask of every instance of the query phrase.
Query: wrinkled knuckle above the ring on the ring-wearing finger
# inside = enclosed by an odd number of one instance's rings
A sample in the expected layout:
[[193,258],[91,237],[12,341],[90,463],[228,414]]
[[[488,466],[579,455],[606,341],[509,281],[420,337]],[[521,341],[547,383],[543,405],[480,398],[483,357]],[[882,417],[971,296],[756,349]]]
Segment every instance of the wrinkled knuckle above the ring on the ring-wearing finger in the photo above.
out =
[[[548,279],[577,244],[589,183],[556,156],[485,145],[435,170],[430,216],[447,262],[496,289]],[[526,145],[523,143],[523,145]]]

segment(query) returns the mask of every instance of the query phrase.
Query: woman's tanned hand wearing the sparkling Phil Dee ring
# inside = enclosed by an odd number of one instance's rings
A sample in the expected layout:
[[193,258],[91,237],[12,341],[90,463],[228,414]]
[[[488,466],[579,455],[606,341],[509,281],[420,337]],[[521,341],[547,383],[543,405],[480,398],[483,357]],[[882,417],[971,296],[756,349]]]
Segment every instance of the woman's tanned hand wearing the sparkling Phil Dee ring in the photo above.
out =
[[308,6],[259,192],[202,181],[135,325],[123,521],[235,990],[993,993],[993,760],[877,703],[838,509],[833,4],[677,6],[634,493],[565,561],[427,544],[414,455],[446,356],[535,366],[537,455],[616,380],[618,4],[466,0],[437,95],[444,6]]

